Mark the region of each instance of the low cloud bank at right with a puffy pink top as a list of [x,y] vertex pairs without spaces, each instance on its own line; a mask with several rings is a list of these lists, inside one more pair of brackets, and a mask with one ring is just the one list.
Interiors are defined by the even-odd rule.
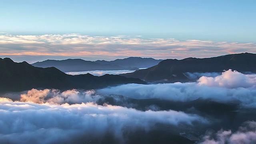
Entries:
[[216,77],[202,76],[198,82],[172,84],[126,84],[98,90],[102,94],[118,94],[135,99],[160,98],[191,101],[198,98],[217,102],[240,102],[256,108],[256,75],[228,70]]

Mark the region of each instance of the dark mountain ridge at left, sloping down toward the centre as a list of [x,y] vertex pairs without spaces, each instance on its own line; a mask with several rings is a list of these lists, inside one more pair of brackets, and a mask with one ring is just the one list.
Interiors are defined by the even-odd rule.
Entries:
[[0,59],[0,92],[30,90],[32,88],[94,89],[118,84],[145,84],[137,78],[91,74],[68,75],[57,68],[38,68],[27,62],[16,63],[10,58]]

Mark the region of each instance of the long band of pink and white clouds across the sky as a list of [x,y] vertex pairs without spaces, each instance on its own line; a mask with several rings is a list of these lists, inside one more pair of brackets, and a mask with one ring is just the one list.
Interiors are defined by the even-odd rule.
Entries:
[[[13,58],[42,56],[47,59],[86,58],[113,60],[128,56],[152,58],[204,58],[229,53],[255,52],[256,44],[143,38],[138,36],[86,36],[81,34],[11,35],[0,34],[0,56]],[[45,59],[44,59],[45,60]]]

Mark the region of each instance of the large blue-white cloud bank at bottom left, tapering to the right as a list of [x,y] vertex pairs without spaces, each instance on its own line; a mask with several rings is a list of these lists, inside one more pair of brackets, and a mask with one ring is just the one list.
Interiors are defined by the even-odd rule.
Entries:
[[[48,92],[32,90],[29,94],[42,97]],[[75,93],[66,91],[62,95],[71,96]],[[142,112],[121,106],[99,106],[92,102],[72,105],[49,102],[35,104],[13,102],[7,98],[0,98],[0,115],[0,142],[20,144],[83,143],[100,140],[108,132],[120,143],[124,140],[124,131],[147,131],[154,129],[156,124],[192,126],[193,122],[207,123],[198,115],[173,110]]]

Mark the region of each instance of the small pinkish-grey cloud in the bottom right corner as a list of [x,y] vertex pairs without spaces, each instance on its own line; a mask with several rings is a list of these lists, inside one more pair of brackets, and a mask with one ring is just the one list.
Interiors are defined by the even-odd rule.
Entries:
[[204,136],[204,141],[200,144],[253,144],[256,143],[256,122],[245,122],[237,132],[220,130],[211,135]]

